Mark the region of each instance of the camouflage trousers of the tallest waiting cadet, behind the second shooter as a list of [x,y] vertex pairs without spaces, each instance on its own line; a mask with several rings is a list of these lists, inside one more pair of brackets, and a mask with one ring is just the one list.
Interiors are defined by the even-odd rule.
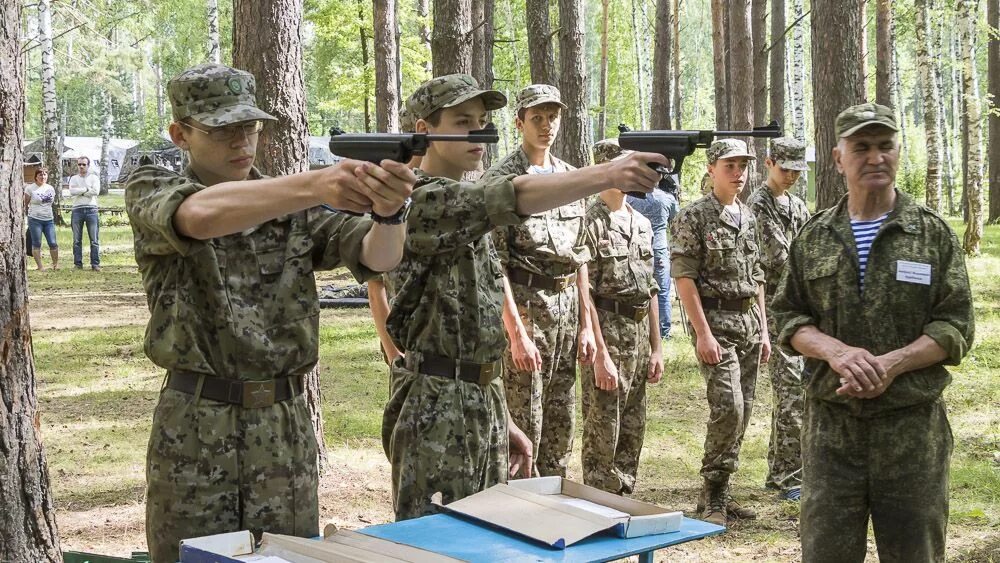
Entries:
[[520,371],[510,348],[504,354],[504,385],[511,419],[531,439],[536,476],[566,476],[576,426],[576,363],[579,300],[576,286],[560,292],[512,283],[511,291],[542,369]]

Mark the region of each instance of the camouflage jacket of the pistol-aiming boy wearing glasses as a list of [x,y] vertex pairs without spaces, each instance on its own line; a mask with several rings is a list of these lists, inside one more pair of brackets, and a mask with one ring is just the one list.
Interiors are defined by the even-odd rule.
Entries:
[[146,355],[168,370],[232,379],[308,372],[319,350],[313,271],[374,276],[360,262],[371,220],[317,207],[194,240],[174,230],[174,214],[204,187],[190,168],[142,166],[129,177],[125,207],[150,311]]

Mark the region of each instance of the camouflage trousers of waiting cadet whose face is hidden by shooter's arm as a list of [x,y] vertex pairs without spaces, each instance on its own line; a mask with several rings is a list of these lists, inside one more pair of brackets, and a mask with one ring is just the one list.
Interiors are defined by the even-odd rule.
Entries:
[[598,389],[594,366],[580,370],[583,394],[583,482],[621,494],[635,489],[646,431],[649,321],[597,311],[604,343],[618,368],[618,388]]

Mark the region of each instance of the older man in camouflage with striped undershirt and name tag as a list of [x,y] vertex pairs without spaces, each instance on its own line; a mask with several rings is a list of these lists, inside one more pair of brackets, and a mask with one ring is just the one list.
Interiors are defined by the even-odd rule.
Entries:
[[942,391],[972,345],[972,295],[948,224],[895,188],[891,108],[837,116],[847,195],[792,242],[772,307],[806,357],[802,559],[944,561],[952,435]]

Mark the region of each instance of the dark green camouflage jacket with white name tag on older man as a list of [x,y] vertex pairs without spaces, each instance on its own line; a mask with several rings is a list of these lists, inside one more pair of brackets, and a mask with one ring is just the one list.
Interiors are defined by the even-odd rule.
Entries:
[[[900,261],[930,266],[930,283],[897,279]],[[858,284],[858,253],[847,196],[817,213],[792,241],[788,269],[772,303],[787,352],[799,328],[813,325],[849,346],[882,355],[926,334],[948,353],[941,364],[900,375],[875,399],[836,394],[840,377],[817,359],[806,359],[806,396],[846,403],[858,416],[935,400],[951,381],[945,365],[957,365],[972,345],[972,294],[961,244],[930,209],[897,191],[896,208],[872,241],[865,289]]]

